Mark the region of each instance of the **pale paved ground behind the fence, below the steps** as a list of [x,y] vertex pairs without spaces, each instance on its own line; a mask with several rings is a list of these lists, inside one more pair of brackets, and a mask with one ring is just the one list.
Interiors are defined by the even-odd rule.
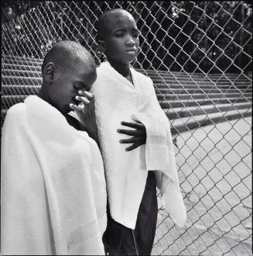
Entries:
[[181,133],[176,144],[186,227],[160,209],[152,254],[251,255],[251,118]]

